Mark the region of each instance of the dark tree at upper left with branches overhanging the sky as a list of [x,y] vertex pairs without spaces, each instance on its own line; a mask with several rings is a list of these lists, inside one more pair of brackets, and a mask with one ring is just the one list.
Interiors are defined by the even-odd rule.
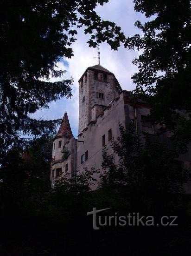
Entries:
[[119,47],[124,35],[115,23],[101,20],[94,11],[108,0],[29,0],[0,2],[0,148],[22,143],[20,134],[54,134],[60,120],[43,121],[30,117],[48,103],[71,96],[72,79],[50,82],[65,71],[56,63],[71,58],[71,44],[77,28],[90,34],[89,46],[107,41]]

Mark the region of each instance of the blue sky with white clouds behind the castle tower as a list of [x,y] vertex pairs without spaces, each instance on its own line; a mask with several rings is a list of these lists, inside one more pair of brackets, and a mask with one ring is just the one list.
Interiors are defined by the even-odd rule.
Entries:
[[[143,14],[134,11],[133,0],[109,0],[104,6],[97,6],[96,13],[103,20],[115,22],[127,37],[141,33],[138,28],[134,27],[135,21],[146,21]],[[78,135],[78,80],[87,67],[98,64],[98,59],[94,58],[97,57],[97,49],[89,48],[87,44],[89,37],[83,33],[83,29],[78,30],[77,40],[72,44],[74,56],[71,59],[62,59],[57,63],[58,69],[66,70],[67,73],[62,78],[50,79],[50,81],[58,81],[73,77],[71,99],[62,98],[51,102],[49,109],[38,110],[33,115],[37,119],[57,119],[62,118],[64,112],[67,111],[74,137]],[[115,74],[122,89],[133,90],[135,85],[131,77],[137,71],[137,67],[132,64],[132,61],[140,53],[136,50],[125,49],[123,46],[114,51],[107,43],[100,45],[100,52],[101,65]]]

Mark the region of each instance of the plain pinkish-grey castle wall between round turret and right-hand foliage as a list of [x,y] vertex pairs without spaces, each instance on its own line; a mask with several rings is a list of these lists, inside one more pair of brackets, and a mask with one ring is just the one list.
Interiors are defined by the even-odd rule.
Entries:
[[[114,118],[115,117],[115,118]],[[78,135],[77,142],[77,171],[83,171],[83,168],[88,167],[89,170],[92,167],[96,169],[102,169],[102,136],[105,135],[106,146],[111,146],[111,140],[108,141],[108,131],[112,130],[112,139],[115,139],[120,135],[118,124],[125,125],[124,104],[123,95],[117,101],[114,101],[108,109],[104,111],[104,114],[97,118],[97,121],[88,125],[88,129],[84,130],[82,135]],[[85,157],[85,153],[88,151],[88,160],[82,163],[82,155]],[[111,152],[111,148],[109,148]],[[108,151],[108,152],[109,152]],[[99,175],[95,175],[99,181]],[[91,189],[96,189],[97,184],[93,185]]]

